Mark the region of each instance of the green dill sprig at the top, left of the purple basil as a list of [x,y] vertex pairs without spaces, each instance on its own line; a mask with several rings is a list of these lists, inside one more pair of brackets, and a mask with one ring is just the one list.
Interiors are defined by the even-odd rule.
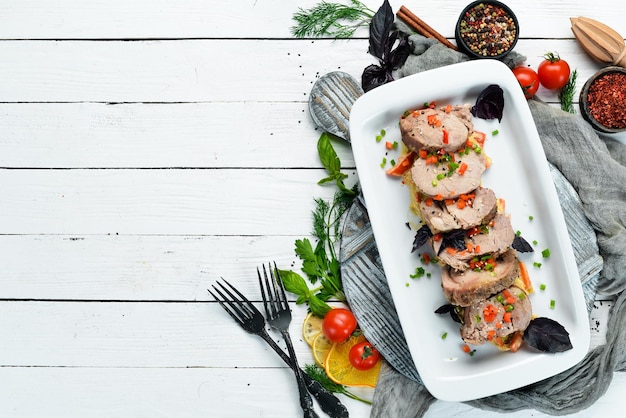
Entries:
[[358,0],[351,5],[322,1],[310,9],[298,9],[293,15],[296,25],[291,33],[296,38],[332,36],[349,38],[361,26],[367,26],[374,11]]

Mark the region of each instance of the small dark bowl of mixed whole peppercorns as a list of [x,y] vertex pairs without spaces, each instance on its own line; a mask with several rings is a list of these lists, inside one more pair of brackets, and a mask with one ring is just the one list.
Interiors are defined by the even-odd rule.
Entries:
[[470,58],[504,58],[519,39],[515,13],[499,1],[474,1],[461,12],[455,29],[460,51]]

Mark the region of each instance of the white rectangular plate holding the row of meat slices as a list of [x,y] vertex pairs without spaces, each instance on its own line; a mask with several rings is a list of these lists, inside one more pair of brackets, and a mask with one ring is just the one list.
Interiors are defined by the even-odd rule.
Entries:
[[[381,161],[397,158],[385,141],[401,143],[398,121],[407,109],[436,101],[438,105],[474,104],[489,84],[504,91],[504,115],[498,120],[474,118],[475,129],[487,133],[484,150],[493,164],[483,185],[506,201],[513,229],[530,243],[533,253],[520,254],[535,288],[536,316],[556,320],[570,333],[573,349],[544,354],[523,348],[501,352],[491,344],[461,349],[459,327],[435,309],[447,303],[441,291],[441,268],[426,266],[431,277],[412,279],[422,263],[411,253],[415,228],[409,194],[398,178],[385,174]],[[386,131],[384,140],[376,136]],[[498,130],[496,135],[493,134]],[[558,374],[578,363],[589,348],[587,310],[563,213],[537,129],[522,90],[508,67],[478,60],[419,73],[378,87],[359,98],[350,115],[350,137],[359,181],[374,237],[400,323],[415,366],[433,396],[466,401],[519,388]],[[387,163],[387,168],[390,167]],[[543,258],[542,250],[550,257]],[[533,263],[541,263],[534,267]],[[539,290],[545,284],[545,290]],[[550,301],[556,305],[550,307]],[[447,333],[446,338],[442,335]]]

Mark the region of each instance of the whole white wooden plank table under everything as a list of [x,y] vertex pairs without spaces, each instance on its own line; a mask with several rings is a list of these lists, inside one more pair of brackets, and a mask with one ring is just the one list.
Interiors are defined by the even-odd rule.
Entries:
[[[291,16],[315,3],[0,0],[0,416],[301,416],[290,371],[206,288],[223,276],[258,299],[256,266],[299,266],[313,198],[332,194],[316,184],[308,94],[320,75],[360,78],[374,59],[365,29],[293,39]],[[569,17],[626,34],[617,0],[507,3],[528,63],[556,50],[579,88],[600,66]],[[452,38],[466,2],[391,2],[402,4]],[[354,175],[350,148],[336,147]],[[299,360],[312,362],[305,309],[293,311]],[[625,390],[616,375],[577,416],[607,416]],[[444,414],[490,416],[428,412]]]

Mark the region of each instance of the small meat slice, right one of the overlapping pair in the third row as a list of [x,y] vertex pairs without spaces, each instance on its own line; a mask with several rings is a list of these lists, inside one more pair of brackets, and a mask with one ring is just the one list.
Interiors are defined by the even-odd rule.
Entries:
[[454,202],[446,202],[446,209],[456,220],[459,229],[486,224],[496,215],[496,194],[485,187],[479,187],[468,195],[461,195]]

